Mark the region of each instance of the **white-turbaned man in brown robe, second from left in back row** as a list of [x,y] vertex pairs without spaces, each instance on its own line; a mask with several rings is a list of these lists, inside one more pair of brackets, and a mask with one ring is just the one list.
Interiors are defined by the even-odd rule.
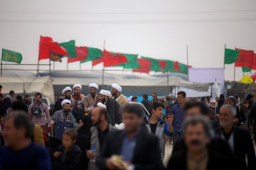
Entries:
[[84,95],[81,94],[82,86],[76,84],[73,86],[74,93],[71,96],[72,107],[83,107],[84,104]]

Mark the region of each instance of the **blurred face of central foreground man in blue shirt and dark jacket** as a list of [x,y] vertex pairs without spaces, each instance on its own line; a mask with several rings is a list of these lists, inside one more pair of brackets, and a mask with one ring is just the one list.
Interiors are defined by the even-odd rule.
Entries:
[[136,132],[140,128],[140,125],[143,122],[143,118],[138,117],[135,113],[127,113],[123,114],[123,122],[125,125],[125,131],[127,133]]

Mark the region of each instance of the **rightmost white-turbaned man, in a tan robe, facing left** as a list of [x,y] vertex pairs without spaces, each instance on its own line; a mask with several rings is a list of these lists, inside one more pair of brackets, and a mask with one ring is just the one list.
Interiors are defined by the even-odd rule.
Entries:
[[129,100],[127,99],[127,97],[124,96],[124,94],[121,94],[122,92],[122,87],[120,87],[120,85],[113,83],[111,85],[111,94],[113,99],[115,99],[118,104],[121,106],[121,108],[123,108],[126,104],[129,103]]

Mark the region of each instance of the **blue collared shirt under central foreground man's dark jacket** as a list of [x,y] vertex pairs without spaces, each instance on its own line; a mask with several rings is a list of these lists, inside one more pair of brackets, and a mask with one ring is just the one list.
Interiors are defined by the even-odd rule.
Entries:
[[136,146],[136,139],[138,137],[139,132],[140,130],[134,134],[132,139],[130,139],[124,132],[124,140],[122,144],[121,155],[123,156],[123,160],[127,162],[132,162],[134,148]]

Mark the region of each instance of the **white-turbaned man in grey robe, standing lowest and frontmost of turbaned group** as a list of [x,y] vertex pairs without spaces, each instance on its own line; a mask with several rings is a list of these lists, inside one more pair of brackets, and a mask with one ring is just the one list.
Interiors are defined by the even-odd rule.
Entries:
[[78,129],[79,126],[76,122],[76,118],[71,113],[71,101],[68,99],[64,99],[61,102],[62,110],[56,111],[52,118],[51,122],[49,123],[49,127],[52,127],[54,124],[57,124],[58,122],[72,122],[74,123],[74,128]]

